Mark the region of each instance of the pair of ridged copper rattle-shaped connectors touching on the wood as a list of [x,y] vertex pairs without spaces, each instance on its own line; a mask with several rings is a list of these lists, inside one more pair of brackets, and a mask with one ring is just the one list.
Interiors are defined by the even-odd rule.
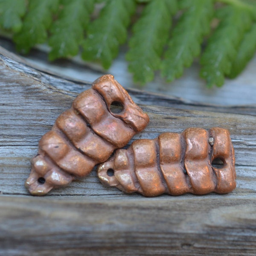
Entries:
[[[118,111],[114,106],[119,106]],[[32,195],[45,195],[88,175],[99,163],[102,183],[147,197],[187,192],[222,194],[236,187],[228,130],[188,128],[181,134],[167,132],[118,149],[148,122],[148,115],[113,76],[100,77],[91,89],[77,96],[72,107],[41,138],[26,188]],[[223,162],[221,168],[212,165],[215,159]]]

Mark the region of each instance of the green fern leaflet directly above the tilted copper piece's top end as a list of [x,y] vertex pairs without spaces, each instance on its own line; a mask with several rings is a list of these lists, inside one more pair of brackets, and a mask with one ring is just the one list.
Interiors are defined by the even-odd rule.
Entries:
[[125,43],[127,26],[135,11],[134,0],[108,0],[99,17],[89,24],[87,38],[82,44],[82,58],[86,61],[99,61],[105,69],[111,66]]

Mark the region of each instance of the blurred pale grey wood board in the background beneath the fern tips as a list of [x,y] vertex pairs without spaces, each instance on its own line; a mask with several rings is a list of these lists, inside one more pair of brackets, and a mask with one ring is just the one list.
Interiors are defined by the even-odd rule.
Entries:
[[[7,38],[0,37],[0,45],[12,52],[16,52],[15,44]],[[133,82],[132,75],[128,72],[128,63],[125,60],[126,50],[125,47],[121,47],[119,55],[113,61],[108,73],[114,75],[125,88],[138,88],[139,85]],[[47,56],[48,52],[49,48],[40,45],[36,47],[36,49],[33,49],[29,55],[26,55],[25,59],[32,67],[36,64],[40,67],[39,70],[45,69],[48,70],[48,72],[50,70],[50,72],[55,72],[61,77],[69,76],[71,80],[80,79],[82,81],[93,81],[104,74],[104,70],[102,70],[99,65],[84,63],[81,59],[76,57],[69,58],[68,60],[61,59],[49,62]],[[166,83],[164,79],[161,78],[160,73],[157,72],[154,81],[145,84],[143,90],[182,97],[191,102],[196,101],[202,104],[255,104],[256,54],[248,63],[245,70],[236,79],[225,79],[225,85],[223,87],[207,88],[205,81],[199,76],[200,69],[201,65],[199,61],[195,60],[191,67],[184,70],[183,76],[172,83]],[[67,88],[67,90],[70,90],[70,88]],[[169,98],[169,96],[167,96],[167,98]],[[167,100],[166,102],[169,101]]]

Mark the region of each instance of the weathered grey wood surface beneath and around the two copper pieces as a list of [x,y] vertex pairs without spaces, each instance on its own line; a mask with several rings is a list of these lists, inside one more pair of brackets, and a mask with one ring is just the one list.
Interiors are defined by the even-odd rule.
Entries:
[[230,194],[125,195],[99,183],[94,170],[38,198],[24,187],[38,141],[90,84],[41,72],[3,48],[0,76],[0,255],[256,255],[255,105],[129,90],[151,120],[131,142],[188,127],[230,130],[237,173]]

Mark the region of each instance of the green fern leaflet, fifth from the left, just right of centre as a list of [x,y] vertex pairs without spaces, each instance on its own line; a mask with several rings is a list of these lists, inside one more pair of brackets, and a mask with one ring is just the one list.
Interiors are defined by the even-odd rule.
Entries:
[[146,83],[154,79],[159,69],[163,47],[172,24],[172,14],[177,11],[176,0],[151,0],[133,27],[134,35],[129,41],[126,54],[128,70],[134,81]]

